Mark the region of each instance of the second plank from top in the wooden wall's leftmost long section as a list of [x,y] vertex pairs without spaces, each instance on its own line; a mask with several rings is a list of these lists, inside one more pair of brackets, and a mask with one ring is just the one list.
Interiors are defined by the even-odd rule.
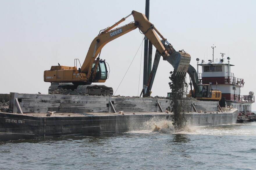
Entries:
[[109,101],[99,101],[99,100],[80,100],[80,99],[21,99],[22,103],[106,103]]

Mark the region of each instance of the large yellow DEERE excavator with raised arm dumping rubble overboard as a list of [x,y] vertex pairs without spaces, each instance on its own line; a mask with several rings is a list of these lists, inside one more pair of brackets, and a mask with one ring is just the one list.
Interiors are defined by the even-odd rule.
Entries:
[[[113,29],[131,15],[134,17],[134,22]],[[173,46],[168,43],[154,25],[147,20],[144,14],[132,11],[127,17],[122,18],[111,27],[102,30],[102,32],[95,37],[89,47],[83,64],[80,64],[81,68],[77,69],[77,61],[79,60],[75,59],[74,67],[57,65],[51,66],[51,70],[46,70],[44,72],[44,81],[51,83],[49,92],[62,88],[77,89],[78,92],[88,95],[113,95],[113,89],[111,87],[92,85],[92,83],[104,83],[108,78],[105,60],[99,58],[100,52],[104,45],[136,28],[138,28],[154,47],[156,47],[161,56],[163,56],[163,60],[167,60],[173,65],[176,74],[186,74],[191,59],[190,55],[184,52],[176,52]],[[158,35],[161,37],[164,44],[158,38]]]

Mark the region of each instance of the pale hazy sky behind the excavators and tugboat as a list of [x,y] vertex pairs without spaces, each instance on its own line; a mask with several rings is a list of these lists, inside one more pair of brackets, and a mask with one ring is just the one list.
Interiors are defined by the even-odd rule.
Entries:
[[[150,22],[175,50],[184,49],[196,58],[212,59],[225,53],[231,58],[231,72],[243,78],[242,95],[256,92],[255,12],[256,1],[150,1]],[[91,41],[99,31],[126,17],[132,10],[145,13],[145,0],[129,1],[35,1],[0,0],[0,93],[48,93],[50,83],[44,70],[52,65],[74,66],[84,61]],[[130,23],[129,17],[119,26]],[[110,66],[104,85],[117,90],[143,40],[138,29],[111,41],[102,49],[101,59]],[[139,49],[115,95],[137,96],[142,90],[143,50]],[[155,49],[153,48],[153,57]],[[227,60],[225,60],[227,61]],[[140,67],[141,74],[140,74]],[[169,72],[173,67],[160,60],[152,96],[170,91]],[[201,69],[200,71],[201,72]],[[141,80],[139,76],[141,75]],[[189,81],[189,78],[187,78]],[[140,82],[140,86],[139,86]],[[139,89],[138,89],[139,88]],[[252,110],[256,110],[253,104]]]

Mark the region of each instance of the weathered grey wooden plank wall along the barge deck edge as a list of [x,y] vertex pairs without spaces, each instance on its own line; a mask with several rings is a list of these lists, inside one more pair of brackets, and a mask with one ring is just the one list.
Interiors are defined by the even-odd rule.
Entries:
[[[93,112],[165,112],[171,110],[169,99],[128,98],[111,96],[70,96],[48,94],[10,94],[10,108],[17,113],[93,113]],[[16,102],[17,98],[18,102]],[[217,101],[186,100],[184,111],[218,111]]]

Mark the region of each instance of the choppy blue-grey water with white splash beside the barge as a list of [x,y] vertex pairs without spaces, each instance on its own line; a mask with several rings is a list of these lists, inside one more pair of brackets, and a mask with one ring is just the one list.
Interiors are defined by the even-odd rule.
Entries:
[[256,122],[0,142],[0,169],[256,169]]

